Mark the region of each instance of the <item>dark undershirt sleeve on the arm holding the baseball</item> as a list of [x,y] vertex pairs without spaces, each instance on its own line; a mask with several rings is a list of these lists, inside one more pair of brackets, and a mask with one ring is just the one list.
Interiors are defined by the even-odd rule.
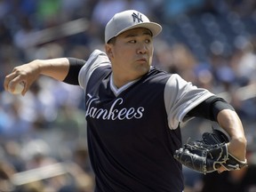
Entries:
[[76,58],[67,58],[69,61],[69,70],[68,75],[65,77],[63,82],[67,84],[75,84],[78,85],[78,75],[80,69],[84,66],[85,60],[79,60]]

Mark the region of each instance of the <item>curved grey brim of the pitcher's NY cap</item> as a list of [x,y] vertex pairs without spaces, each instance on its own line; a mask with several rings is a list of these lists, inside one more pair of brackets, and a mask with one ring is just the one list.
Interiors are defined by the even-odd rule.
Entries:
[[119,36],[120,34],[132,28],[148,28],[152,32],[152,36],[157,36],[162,31],[161,25],[155,22],[143,22],[143,23],[138,23],[136,25],[132,25],[129,28],[124,28],[123,30],[119,31],[119,33],[117,33],[116,36]]

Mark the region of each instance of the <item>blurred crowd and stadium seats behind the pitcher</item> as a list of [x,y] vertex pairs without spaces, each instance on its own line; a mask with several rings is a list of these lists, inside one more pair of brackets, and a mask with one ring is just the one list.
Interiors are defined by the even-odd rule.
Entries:
[[[4,91],[4,76],[30,60],[86,60],[95,48],[103,49],[108,20],[127,9],[162,24],[156,67],[219,94],[244,124],[249,166],[221,177],[184,168],[185,192],[256,191],[253,0],[0,0],[0,191],[93,191],[83,90],[42,76],[23,97]],[[182,125],[184,142],[198,139],[211,124],[195,119]],[[56,169],[60,174],[51,172]],[[212,180],[228,187],[211,187]]]

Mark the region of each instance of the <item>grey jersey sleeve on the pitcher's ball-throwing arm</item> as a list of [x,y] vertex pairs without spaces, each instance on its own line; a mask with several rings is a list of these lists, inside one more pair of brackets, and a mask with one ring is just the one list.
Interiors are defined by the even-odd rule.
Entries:
[[103,66],[110,66],[110,60],[105,52],[101,52],[100,50],[95,50],[90,55],[89,59],[84,64],[84,67],[81,68],[78,75],[79,85],[86,90],[86,85],[92,75],[92,72],[96,68],[100,68]]

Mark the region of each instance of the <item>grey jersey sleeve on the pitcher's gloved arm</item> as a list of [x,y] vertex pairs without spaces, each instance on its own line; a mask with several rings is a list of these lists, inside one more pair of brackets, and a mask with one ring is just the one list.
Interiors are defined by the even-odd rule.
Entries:
[[204,100],[214,95],[202,88],[185,81],[179,75],[173,74],[164,88],[164,104],[170,129],[176,129],[180,122],[186,122],[187,113]]

